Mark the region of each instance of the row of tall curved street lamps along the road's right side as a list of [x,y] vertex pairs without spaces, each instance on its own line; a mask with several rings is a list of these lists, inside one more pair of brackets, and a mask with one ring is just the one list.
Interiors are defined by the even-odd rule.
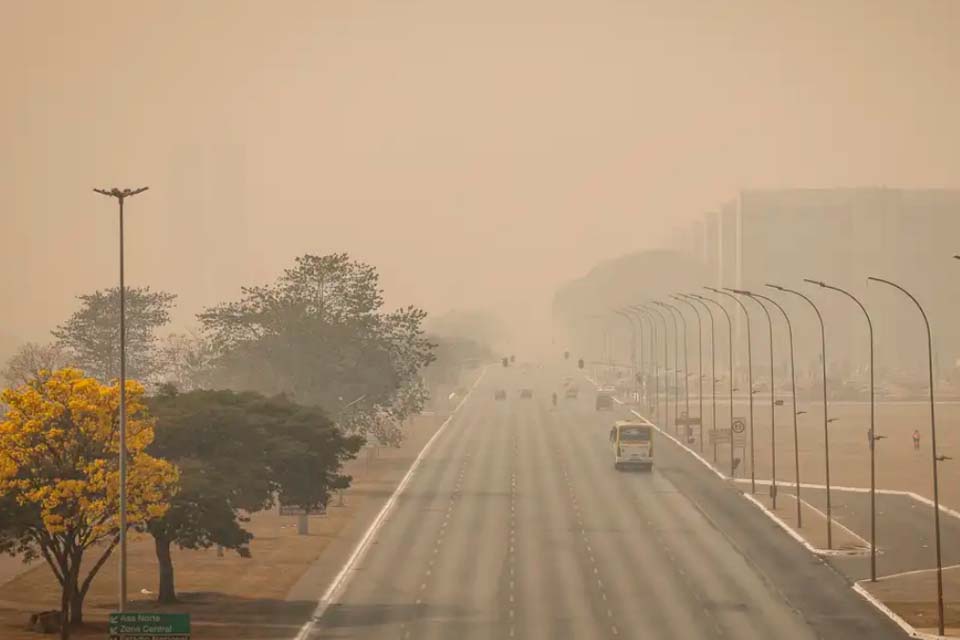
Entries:
[[[953,256],[955,259],[960,260],[960,255]],[[940,495],[939,495],[939,482],[938,482],[938,470],[937,465],[939,462],[944,460],[949,460],[947,456],[941,456],[937,452],[937,435],[936,435],[936,416],[935,416],[935,406],[934,406],[934,391],[933,391],[933,346],[932,338],[930,332],[930,322],[927,318],[927,314],[924,311],[922,305],[919,301],[907,291],[905,288],[883,278],[877,278],[870,276],[867,278],[868,282],[877,282],[889,287],[899,290],[901,293],[906,295],[913,303],[916,305],[917,309],[920,311],[920,314],[924,321],[924,326],[927,333],[927,355],[928,355],[928,372],[929,372],[929,396],[930,396],[930,432],[931,432],[931,451],[932,451],[932,463],[933,463],[933,513],[934,513],[934,529],[935,529],[935,539],[936,539],[936,562],[937,562],[937,611],[938,611],[938,628],[939,632],[943,634],[943,566],[941,559],[941,545],[940,545]],[[867,321],[867,329],[869,333],[870,341],[870,367],[869,367],[869,376],[870,376],[870,430],[868,432],[868,440],[870,447],[870,579],[876,581],[877,579],[877,527],[876,527],[876,442],[881,440],[884,436],[878,435],[876,432],[875,424],[875,387],[874,387],[874,335],[873,335],[873,322],[870,318],[870,314],[867,311],[866,306],[861,302],[856,296],[854,296],[849,291],[837,287],[835,285],[828,284],[820,280],[811,280],[805,279],[804,282],[809,284],[816,285],[821,289],[835,291],[840,293],[850,300],[852,300],[863,312],[864,317]],[[820,329],[820,361],[822,367],[822,401],[823,401],[823,436],[824,436],[824,465],[825,465],[825,489],[826,489],[826,529],[827,529],[827,548],[833,548],[833,514],[832,514],[832,504],[831,504],[831,487],[830,487],[830,423],[834,422],[836,418],[831,418],[828,413],[828,401],[827,401],[827,356],[826,356],[826,331],[824,328],[823,315],[820,312],[820,309],[817,307],[816,303],[806,294],[797,291],[796,289],[791,289],[788,287],[780,286],[777,284],[768,283],[766,287],[779,291],[783,294],[790,294],[796,297],[801,298],[810,308],[813,309],[817,322]],[[748,427],[750,431],[750,489],[751,492],[756,492],[756,477],[754,474],[754,459],[755,459],[755,450],[754,450],[754,432],[753,432],[753,422],[754,422],[754,411],[753,411],[753,354],[752,354],[752,338],[751,338],[751,324],[750,324],[750,313],[747,309],[747,306],[743,304],[742,298],[753,300],[760,309],[763,310],[764,315],[767,318],[767,324],[769,328],[769,337],[770,337],[770,462],[771,462],[771,488],[770,495],[772,499],[773,508],[777,508],[777,476],[776,476],[776,412],[775,407],[777,406],[777,401],[775,397],[775,386],[774,386],[774,340],[773,340],[773,317],[770,314],[770,309],[768,305],[773,308],[776,308],[780,314],[783,316],[784,321],[787,326],[788,332],[788,341],[789,341],[789,351],[790,351],[790,384],[792,391],[793,399],[793,447],[794,447],[794,474],[795,474],[795,483],[794,491],[796,493],[796,503],[797,503],[797,527],[802,526],[801,520],[801,501],[800,501],[800,454],[799,454],[799,435],[797,429],[797,417],[806,413],[805,411],[797,410],[797,387],[796,387],[796,369],[794,364],[794,340],[793,340],[793,325],[790,321],[790,317],[787,314],[786,310],[781,306],[779,302],[774,300],[772,297],[762,295],[755,291],[749,291],[745,289],[732,289],[732,288],[715,288],[715,287],[704,287],[704,289],[713,292],[718,296],[723,296],[733,300],[743,311],[744,318],[746,320],[746,339],[747,339],[747,383],[749,385],[749,392],[747,394],[748,403],[749,403],[749,422]],[[728,334],[729,334],[729,392],[730,392],[730,476],[733,477],[737,467],[737,461],[734,457],[734,432],[733,432],[733,392],[736,391],[734,387],[734,371],[733,371],[733,320],[730,317],[730,314],[727,312],[724,305],[717,298],[710,297],[704,294],[698,293],[674,293],[671,294],[670,299],[672,301],[683,303],[693,310],[694,314],[697,317],[697,327],[698,327],[698,345],[699,345],[699,403],[700,403],[700,438],[699,438],[699,448],[700,452],[703,452],[703,322],[698,310],[698,305],[702,307],[710,317],[710,345],[711,345],[711,365],[710,365],[710,378],[711,378],[711,388],[713,395],[713,423],[712,427],[716,430],[717,425],[717,376],[716,376],[716,318],[713,314],[713,309],[719,309],[727,321]],[[674,327],[674,423],[679,424],[679,393],[680,393],[680,366],[679,366],[679,351],[680,351],[680,327],[677,322],[677,318],[680,318],[680,324],[683,325],[683,353],[684,353],[684,394],[685,394],[685,407],[686,415],[689,417],[690,413],[690,393],[689,393],[689,368],[688,368],[688,359],[687,359],[687,345],[686,345],[686,334],[687,326],[684,314],[679,306],[674,306],[663,300],[650,300],[643,304],[631,305],[623,307],[621,309],[615,310],[615,313],[619,316],[625,318],[630,325],[630,329],[633,332],[634,345],[639,344],[639,359],[638,359],[638,368],[639,371],[644,364],[643,359],[643,336],[644,333],[647,333],[649,338],[649,353],[650,362],[652,362],[653,369],[653,378],[654,378],[654,404],[655,404],[655,413],[657,420],[659,421],[663,417],[662,424],[670,424],[670,386],[668,384],[668,375],[669,375],[669,354],[668,354],[668,323],[666,312],[672,319],[672,324]],[[646,321],[649,324],[649,329],[645,330]],[[656,347],[658,342],[658,324],[662,327],[663,333],[663,370],[664,370],[664,410],[661,414],[660,405],[659,405],[659,378],[660,378],[660,367],[659,362],[656,356]],[[636,340],[636,332],[639,329],[640,339]],[[636,351],[634,352],[636,356]],[[646,397],[645,390],[642,392],[642,398]],[[717,438],[716,434],[713,439],[713,459],[716,462],[717,460]]]

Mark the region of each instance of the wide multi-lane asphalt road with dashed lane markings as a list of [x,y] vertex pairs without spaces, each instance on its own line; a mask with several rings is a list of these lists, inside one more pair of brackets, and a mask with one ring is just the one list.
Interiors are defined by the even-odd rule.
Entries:
[[620,411],[554,409],[559,382],[489,371],[311,638],[906,637],[665,438],[615,471]]

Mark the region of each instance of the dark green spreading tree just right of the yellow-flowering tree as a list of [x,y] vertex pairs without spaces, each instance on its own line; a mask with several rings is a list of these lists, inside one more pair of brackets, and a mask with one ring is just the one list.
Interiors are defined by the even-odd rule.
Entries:
[[166,388],[149,400],[157,419],[149,451],[180,468],[180,492],[150,520],[159,563],[160,602],[177,595],[172,545],[245,550],[246,514],[284,502],[316,507],[349,477],[339,473],[360,447],[317,409],[258,393]]

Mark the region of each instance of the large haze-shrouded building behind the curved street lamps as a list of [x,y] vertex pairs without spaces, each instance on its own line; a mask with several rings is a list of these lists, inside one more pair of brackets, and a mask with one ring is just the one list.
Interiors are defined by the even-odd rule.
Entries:
[[[704,263],[717,286],[759,291],[774,282],[817,302],[827,325],[831,377],[862,377],[868,362],[866,324],[852,301],[805,284],[803,278],[824,280],[860,297],[874,320],[878,371],[890,380],[916,380],[918,371],[926,369],[922,320],[902,294],[876,283],[867,286],[866,278],[903,285],[930,316],[938,374],[954,374],[960,358],[960,261],[952,256],[960,253],[960,190],[743,191],[706,214],[696,228],[700,238],[688,251]],[[809,373],[819,357],[813,312],[792,296],[765,292],[789,302],[798,366]],[[762,370],[759,358],[767,356],[757,349],[765,352],[768,337],[759,310],[753,323],[754,369]]]

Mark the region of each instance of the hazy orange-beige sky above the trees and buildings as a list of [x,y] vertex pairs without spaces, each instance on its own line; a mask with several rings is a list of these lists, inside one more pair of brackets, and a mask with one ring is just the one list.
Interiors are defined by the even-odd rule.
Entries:
[[960,2],[0,0],[0,334],[305,252],[523,326],[741,187],[960,186]]

